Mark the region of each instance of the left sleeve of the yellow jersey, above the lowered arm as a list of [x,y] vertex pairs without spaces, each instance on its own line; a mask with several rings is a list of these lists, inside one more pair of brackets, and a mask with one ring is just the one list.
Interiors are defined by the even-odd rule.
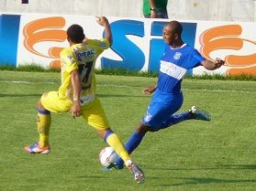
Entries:
[[71,48],[65,48],[61,51],[61,62],[62,67],[68,73],[71,73],[74,69],[78,69],[78,64]]

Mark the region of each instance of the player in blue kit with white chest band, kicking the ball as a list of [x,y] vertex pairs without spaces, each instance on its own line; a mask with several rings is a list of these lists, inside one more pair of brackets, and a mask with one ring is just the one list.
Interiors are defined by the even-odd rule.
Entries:
[[[182,25],[178,21],[171,21],[163,28],[163,39],[166,42],[164,53],[160,61],[160,74],[155,87],[144,89],[144,93],[155,92],[148,107],[147,114],[134,133],[129,137],[125,148],[131,154],[141,143],[147,132],[157,132],[185,120],[210,121],[210,115],[193,106],[189,111],[177,114],[184,101],[181,83],[188,69],[204,66],[214,70],[225,62],[219,58],[215,62],[203,58],[195,49],[186,45],[181,37]],[[123,168],[121,158],[109,168]]]

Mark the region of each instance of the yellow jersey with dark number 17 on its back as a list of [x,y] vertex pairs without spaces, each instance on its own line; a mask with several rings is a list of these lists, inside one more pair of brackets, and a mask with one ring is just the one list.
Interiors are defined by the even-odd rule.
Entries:
[[71,72],[78,69],[82,81],[82,104],[95,100],[95,61],[110,44],[106,38],[86,39],[61,51],[61,87],[59,98],[72,100]]

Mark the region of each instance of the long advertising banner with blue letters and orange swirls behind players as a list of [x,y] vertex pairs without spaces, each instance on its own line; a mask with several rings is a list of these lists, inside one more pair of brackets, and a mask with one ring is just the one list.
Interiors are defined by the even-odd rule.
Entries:
[[[108,17],[113,44],[97,59],[96,69],[158,71],[168,20]],[[212,73],[256,76],[255,23],[181,21],[184,42],[205,58],[223,58],[226,66]],[[60,52],[69,46],[66,29],[79,24],[88,38],[104,37],[95,16],[0,15],[0,65],[38,64],[60,68]],[[198,67],[191,74],[210,73]]]

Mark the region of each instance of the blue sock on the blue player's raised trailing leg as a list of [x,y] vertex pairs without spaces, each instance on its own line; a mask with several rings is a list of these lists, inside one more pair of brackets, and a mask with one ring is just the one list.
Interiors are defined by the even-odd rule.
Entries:
[[173,124],[177,124],[179,122],[184,122],[185,120],[191,120],[191,119],[193,119],[193,116],[189,112],[173,114],[165,122],[162,122],[161,129],[165,129],[167,127],[172,126]]

